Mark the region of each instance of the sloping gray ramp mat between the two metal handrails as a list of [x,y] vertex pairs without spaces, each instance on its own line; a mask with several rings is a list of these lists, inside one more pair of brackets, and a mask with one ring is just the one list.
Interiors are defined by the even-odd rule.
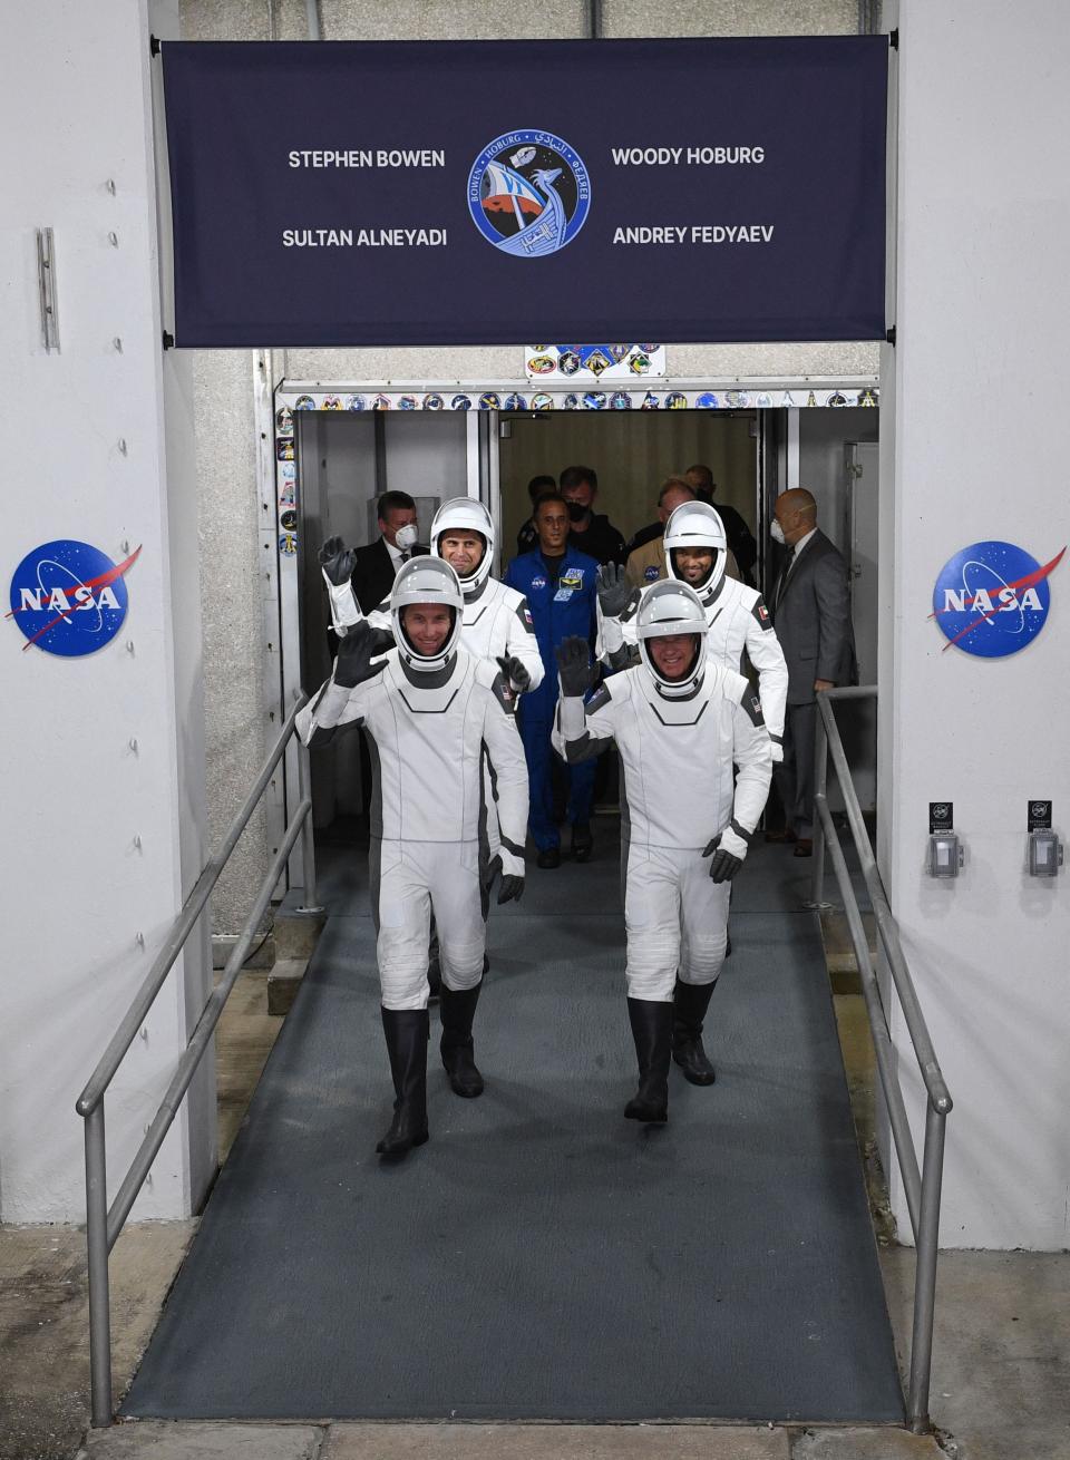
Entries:
[[393,1167],[371,923],[330,920],[126,1415],[902,1421],[813,917],[733,915],[717,1085],[644,1129],[619,912],[555,882],[492,918],[486,1094],[432,1026]]

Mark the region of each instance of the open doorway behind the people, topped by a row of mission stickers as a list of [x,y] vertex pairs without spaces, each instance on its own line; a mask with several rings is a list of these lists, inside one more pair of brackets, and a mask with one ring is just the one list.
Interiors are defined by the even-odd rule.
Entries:
[[[558,477],[578,463],[596,469],[597,510],[625,539],[654,520],[666,476],[695,463],[709,466],[717,483],[714,505],[736,508],[755,533],[756,578],[766,593],[778,572],[768,537],[772,504],[784,488],[807,486],[817,498],[822,530],[851,566],[857,637],[873,660],[871,669],[863,664],[863,677],[874,679],[877,391],[864,385],[851,396],[845,387],[796,390],[794,396],[784,390],[736,394],[740,409],[728,410],[702,409],[698,402],[708,397],[695,394],[680,397],[683,409],[507,412],[495,409],[509,399],[505,387],[453,396],[442,388],[420,396],[384,394],[372,387],[363,387],[362,394],[353,394],[352,387],[302,390],[282,383],[274,441],[279,515],[272,545],[279,574],[280,708],[299,686],[314,689],[330,672],[318,549],[336,533],[353,546],[372,542],[381,492],[401,489],[413,496],[422,542],[442,501],[480,498],[498,526],[493,571],[501,574],[530,514],[530,479]],[[864,711],[854,718],[860,723],[845,726],[845,739],[867,807],[876,802],[876,727],[863,723]],[[288,766],[288,800],[296,797],[290,771]],[[347,748],[314,762],[320,832],[339,819],[361,816],[366,781],[356,736]]]

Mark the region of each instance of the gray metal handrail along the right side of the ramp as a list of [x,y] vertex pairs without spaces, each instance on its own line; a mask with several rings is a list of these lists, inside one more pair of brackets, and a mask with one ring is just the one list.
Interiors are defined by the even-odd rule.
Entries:
[[[914,1229],[917,1247],[917,1267],[914,1275],[914,1326],[911,1336],[911,1372],[907,1394],[907,1415],[911,1429],[924,1434],[931,1429],[928,1419],[928,1386],[933,1367],[933,1317],[936,1307],[936,1260],[940,1237],[940,1191],[943,1186],[943,1148],[947,1114],[952,1110],[952,1096],[944,1083],[940,1064],[933,1048],[933,1041],[921,1012],[914,980],[907,967],[907,958],[899,942],[899,929],[885,892],[866,823],[858,804],[858,794],[851,780],[851,771],[844,752],[844,742],[839,737],[834,699],[876,699],[876,685],[850,685],[842,689],[825,689],[817,694],[817,733],[815,736],[815,809],[817,821],[813,838],[813,905],[819,907],[825,886],[825,851],[832,857],[832,870],[836,875],[839,894],[844,899],[847,923],[858,961],[866,1012],[873,1035],[873,1048],[880,1076],[880,1089],[888,1108],[892,1142],[895,1145],[899,1171],[902,1172],[904,1191],[907,1193],[907,1207]],[[870,958],[869,939],[861,921],[858,899],[851,886],[851,875],[847,869],[844,848],[839,845],[832,813],[828,806],[828,761],[836,771],[839,788],[844,794],[847,819],[851,828],[854,847],[861,863],[866,889],[870,895],[873,914],[880,934],[880,942],[892,972],[892,983],[899,996],[907,1031],[914,1045],[914,1054],[925,1085],[925,1145],[923,1168],[918,1172],[918,1155],[914,1146],[907,1107],[904,1104],[902,1088],[896,1073],[895,1050],[892,1035],[888,1028],[888,1015],[880,997],[877,975]]]

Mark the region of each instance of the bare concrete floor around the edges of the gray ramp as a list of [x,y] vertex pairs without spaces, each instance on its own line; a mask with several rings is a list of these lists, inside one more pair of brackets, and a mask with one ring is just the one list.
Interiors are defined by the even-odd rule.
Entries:
[[[834,987],[850,987],[826,920]],[[873,1139],[873,1051],[863,1000],[835,997],[901,1356],[914,1253],[895,1245]],[[280,1021],[267,980],[244,974],[218,1034],[220,1150],[229,1150]],[[111,1259],[115,1399],[133,1377],[196,1222],[128,1226]],[[0,1460],[1070,1460],[1070,1254],[944,1253],[933,1361],[933,1437],[895,1429],[569,1425],[124,1424],[89,1416],[85,1235],[0,1226]],[[85,1437],[85,1450],[80,1442]]]

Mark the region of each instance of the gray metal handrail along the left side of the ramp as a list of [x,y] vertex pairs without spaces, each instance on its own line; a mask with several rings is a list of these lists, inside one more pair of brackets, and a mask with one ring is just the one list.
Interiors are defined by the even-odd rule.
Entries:
[[89,1372],[92,1391],[92,1425],[102,1429],[111,1425],[111,1292],[108,1282],[108,1254],[111,1253],[120,1232],[130,1216],[130,1210],[137,1199],[152,1162],[163,1145],[171,1124],[178,1114],[178,1108],[193,1083],[197,1067],[209,1047],[219,1016],[234,988],[242,964],[248,956],[250,945],[255,936],[255,929],[263,918],[272,891],[283,875],[286,861],[299,835],[305,835],[305,869],[307,882],[305,902],[315,904],[315,888],[312,882],[311,860],[311,819],[312,802],[308,794],[308,752],[304,746],[298,752],[298,784],[299,804],[293,813],[282,845],[279,847],[272,866],[260,883],[257,899],[245,918],[241,936],[231,950],[231,956],[223,968],[222,978],[209,996],[200,1012],[197,1025],[182,1051],[166,1094],[161,1101],[156,1114],[146,1129],[145,1139],[137,1148],[134,1158],[123,1178],[115,1200],[108,1206],[108,1167],[107,1142],[104,1127],[104,1096],[108,1092],[115,1073],[130,1048],[134,1035],[145,1022],[149,1009],[163,987],[163,980],[181,953],[185,940],[197,926],[200,914],[219,880],[226,861],[238,844],[250,816],[255,810],[257,802],[264,793],[272,772],[282,759],[286,746],[293,734],[293,726],[301,707],[307,704],[307,696],[299,695],[290,714],[283,724],[260,775],[253,784],[253,790],[245,797],[245,803],[231,823],[223,842],[216,856],[207,863],[197,877],[193,891],[182,904],[181,911],[171,926],[163,946],[153,959],[152,968],[146,974],[145,983],[139,988],[134,1002],[127,1010],[123,1022],[108,1042],[108,1048],[101,1057],[96,1069],[89,1077],[86,1088],[77,1098],[76,1110],[85,1120],[85,1153],[86,1153],[86,1245],[89,1251]]

